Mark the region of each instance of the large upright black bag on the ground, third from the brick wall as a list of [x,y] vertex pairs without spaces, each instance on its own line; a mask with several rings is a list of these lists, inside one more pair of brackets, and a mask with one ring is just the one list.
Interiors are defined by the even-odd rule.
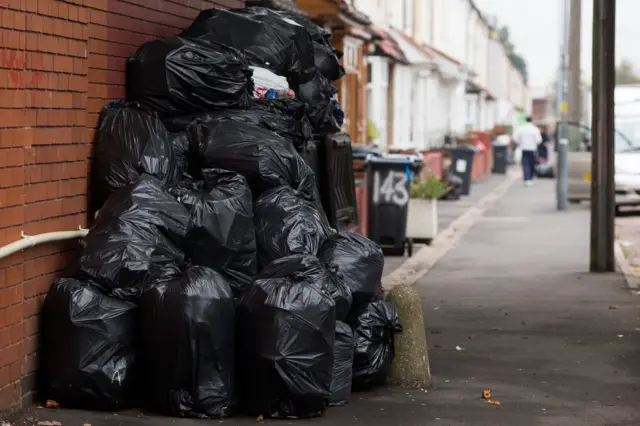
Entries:
[[309,418],[325,410],[335,305],[315,282],[316,266],[308,274],[306,264],[300,256],[273,262],[238,306],[239,401],[247,414]]

